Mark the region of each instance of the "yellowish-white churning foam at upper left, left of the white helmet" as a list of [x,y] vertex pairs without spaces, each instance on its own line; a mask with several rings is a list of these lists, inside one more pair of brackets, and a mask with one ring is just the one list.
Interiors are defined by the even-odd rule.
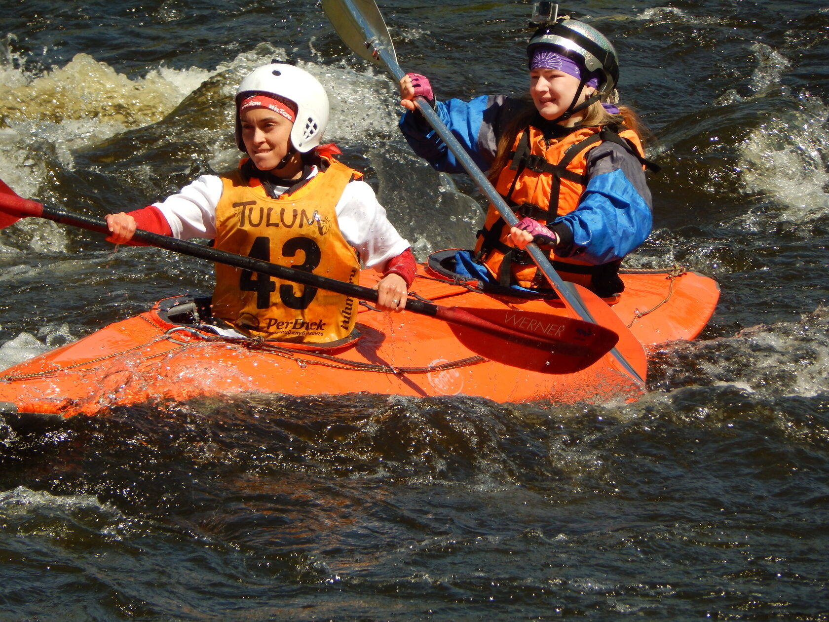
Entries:
[[75,150],[156,123],[211,76],[245,65],[241,55],[215,70],[161,66],[131,78],[88,54],[41,75],[22,60],[0,42],[0,178],[25,197],[46,178],[44,152],[71,170]]

